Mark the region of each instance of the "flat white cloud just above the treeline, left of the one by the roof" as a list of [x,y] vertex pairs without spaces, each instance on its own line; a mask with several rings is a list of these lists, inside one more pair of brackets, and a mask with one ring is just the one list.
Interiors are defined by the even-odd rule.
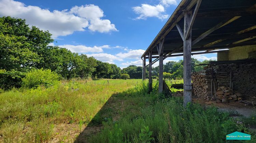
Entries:
[[88,57],[94,57],[95,59],[102,61],[102,62],[108,62],[108,63],[114,63],[114,60],[117,61],[123,61],[123,59],[116,57],[115,55],[108,54],[108,53],[94,53],[94,54],[86,54]]

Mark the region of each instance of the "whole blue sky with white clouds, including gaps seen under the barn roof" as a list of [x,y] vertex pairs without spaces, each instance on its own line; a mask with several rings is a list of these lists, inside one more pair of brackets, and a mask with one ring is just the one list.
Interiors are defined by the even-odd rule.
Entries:
[[[0,0],[0,16],[23,18],[49,30],[55,42],[73,52],[124,68],[142,65],[141,55],[180,0]],[[192,56],[202,61],[216,54]],[[182,57],[167,58],[180,60]],[[153,66],[157,66],[155,63]]]

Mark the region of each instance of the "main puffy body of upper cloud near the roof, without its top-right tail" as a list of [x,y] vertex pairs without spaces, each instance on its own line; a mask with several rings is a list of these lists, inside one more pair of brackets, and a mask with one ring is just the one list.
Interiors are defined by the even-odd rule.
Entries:
[[141,6],[132,7],[133,11],[140,16],[135,19],[146,19],[147,17],[157,17],[159,19],[166,19],[168,15],[162,14],[165,12],[165,7],[162,5],[150,5],[150,4],[141,4]]

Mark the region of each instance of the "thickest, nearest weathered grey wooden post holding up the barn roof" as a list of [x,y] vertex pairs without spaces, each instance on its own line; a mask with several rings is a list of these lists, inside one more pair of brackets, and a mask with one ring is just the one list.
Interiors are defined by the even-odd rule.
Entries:
[[[191,87],[191,31],[188,32],[192,18],[192,11],[185,12],[184,15],[184,42],[183,42],[183,81],[184,81],[184,107],[192,101]],[[185,36],[188,35],[188,38]]]

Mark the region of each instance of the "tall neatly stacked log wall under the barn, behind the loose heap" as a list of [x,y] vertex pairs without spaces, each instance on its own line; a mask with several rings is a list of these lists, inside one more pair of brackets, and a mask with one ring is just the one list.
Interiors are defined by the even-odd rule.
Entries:
[[[192,73],[195,96],[210,100],[215,97],[215,92],[218,92],[219,94],[216,94],[221,96],[218,96],[217,99],[223,100],[222,102],[232,102],[233,98],[233,101],[242,99],[242,97],[251,98],[256,95],[255,71],[255,63],[208,65],[203,71]],[[233,94],[229,94],[233,97],[229,97],[229,95],[227,97],[229,92],[226,92],[226,95],[224,95],[225,93],[220,94],[227,90],[226,88],[233,91]],[[239,93],[239,96],[236,93]]]

